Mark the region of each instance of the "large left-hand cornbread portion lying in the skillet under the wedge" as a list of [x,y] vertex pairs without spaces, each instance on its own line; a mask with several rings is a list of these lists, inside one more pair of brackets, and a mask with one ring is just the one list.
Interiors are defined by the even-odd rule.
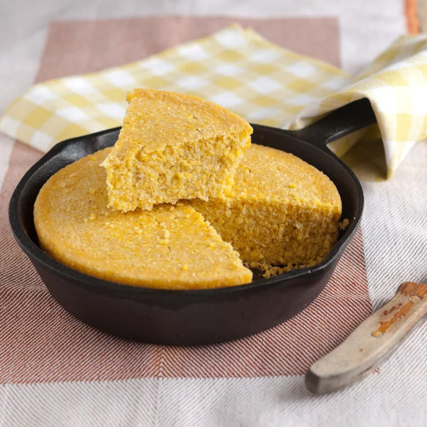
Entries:
[[221,288],[249,283],[251,270],[191,206],[122,214],[107,208],[110,148],[60,169],[34,205],[46,253],[83,273],[149,288]]

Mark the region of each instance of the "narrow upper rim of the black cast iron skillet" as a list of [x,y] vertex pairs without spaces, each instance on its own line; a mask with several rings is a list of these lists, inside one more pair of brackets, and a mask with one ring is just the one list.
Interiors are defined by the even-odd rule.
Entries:
[[[251,124],[254,130],[258,129],[264,129],[269,130],[273,132],[279,132],[280,129],[274,128],[274,127],[268,127],[263,125],[255,125]],[[342,251],[342,248],[347,246],[349,241],[352,240],[354,237],[354,234],[357,231],[357,228],[359,228],[359,223],[362,218],[363,208],[364,208],[364,194],[362,190],[362,185],[359,182],[359,179],[357,179],[357,176],[354,174],[352,169],[350,169],[347,164],[342,162],[339,157],[337,157],[334,153],[330,151],[326,146],[325,147],[319,147],[315,146],[317,149],[321,149],[323,152],[325,152],[327,155],[329,155],[335,162],[339,162],[342,167],[352,176],[352,179],[354,181],[354,184],[357,188],[357,194],[359,196],[359,204],[357,206],[357,215],[354,217],[354,220],[352,221],[352,225],[349,226],[348,230],[344,233],[344,236],[335,243],[334,247],[330,251],[330,253],[322,260],[321,263],[314,265],[313,267],[307,267],[307,268],[297,268],[295,270],[291,270],[285,273],[282,273],[280,275],[277,275],[273,278],[268,279],[259,279],[255,280],[251,283],[246,283],[243,285],[234,285],[229,286],[225,288],[212,288],[212,289],[199,289],[199,290],[169,290],[169,289],[157,289],[157,288],[144,288],[139,286],[132,286],[132,285],[125,285],[122,283],[116,283],[116,282],[110,282],[109,280],[103,280],[100,278],[96,278],[95,276],[87,275],[85,273],[81,273],[78,270],[74,270],[73,268],[67,267],[66,265],[63,265],[61,263],[58,263],[58,261],[51,258],[49,255],[47,255],[45,252],[39,248],[36,243],[34,243],[31,238],[27,235],[25,230],[23,229],[23,226],[21,226],[21,222],[19,220],[18,216],[18,206],[19,206],[19,200],[21,199],[21,193],[23,189],[25,188],[26,184],[28,183],[28,180],[33,176],[33,174],[36,173],[36,171],[43,166],[46,162],[48,162],[50,159],[55,157],[57,154],[59,154],[63,149],[66,147],[75,144],[76,142],[81,142],[82,139],[86,138],[93,138],[93,137],[100,137],[102,135],[106,135],[110,132],[115,132],[117,130],[120,130],[120,127],[115,127],[108,130],[102,130],[100,132],[95,132],[90,135],[83,135],[81,137],[75,137],[71,139],[67,139],[63,142],[60,142],[56,144],[51,150],[49,150],[46,154],[41,157],[41,159],[38,160],[33,166],[28,169],[26,174],[23,175],[21,180],[19,181],[19,184],[16,186],[16,189],[14,190],[14,193],[11,196],[11,200],[9,202],[9,223],[11,225],[12,232],[14,233],[14,237],[16,238],[16,241],[18,241],[19,246],[23,249],[23,251],[27,255],[31,255],[32,257],[36,258],[36,260],[43,265],[43,267],[48,268],[49,270],[53,270],[58,275],[63,275],[67,279],[74,280],[79,285],[88,285],[91,288],[96,288],[97,291],[112,291],[117,292],[118,295],[121,295],[123,299],[129,299],[129,297],[137,296],[137,295],[181,295],[182,297],[188,296],[188,297],[203,297],[203,296],[209,296],[213,294],[224,294],[229,292],[238,292],[238,291],[244,291],[248,289],[258,288],[258,287],[264,287],[268,285],[273,285],[275,283],[283,282],[283,285],[285,285],[285,282],[291,278],[297,278],[303,275],[309,275],[310,273],[315,273],[320,270],[324,270],[327,268],[330,263],[334,262],[334,259],[339,255],[339,253]],[[290,136],[300,139],[297,137],[297,135],[292,135],[290,132]],[[303,139],[301,139],[302,142],[306,142]]]

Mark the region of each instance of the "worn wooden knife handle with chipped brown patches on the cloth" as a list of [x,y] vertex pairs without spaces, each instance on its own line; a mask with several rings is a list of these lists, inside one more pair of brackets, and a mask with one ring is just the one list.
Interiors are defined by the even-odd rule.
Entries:
[[364,379],[393,354],[427,315],[427,285],[405,282],[336,349],[307,371],[315,394],[332,393]]

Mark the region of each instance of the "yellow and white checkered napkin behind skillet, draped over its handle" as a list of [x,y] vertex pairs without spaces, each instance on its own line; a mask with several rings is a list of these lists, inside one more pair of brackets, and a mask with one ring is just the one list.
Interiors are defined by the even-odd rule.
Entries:
[[[174,90],[245,117],[298,128],[369,97],[384,140],[389,176],[426,137],[427,36],[404,37],[356,80],[319,60],[231,26],[144,60],[34,85],[0,120],[0,130],[46,152],[56,142],[120,126],[133,88]],[[354,138],[334,144],[343,154]]]

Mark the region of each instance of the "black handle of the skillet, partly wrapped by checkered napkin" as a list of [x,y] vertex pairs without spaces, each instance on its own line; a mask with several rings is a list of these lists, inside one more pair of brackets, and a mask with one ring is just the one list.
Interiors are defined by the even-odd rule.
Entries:
[[345,137],[376,122],[371,102],[367,98],[351,102],[303,129],[292,132],[295,137],[324,147],[329,142]]

